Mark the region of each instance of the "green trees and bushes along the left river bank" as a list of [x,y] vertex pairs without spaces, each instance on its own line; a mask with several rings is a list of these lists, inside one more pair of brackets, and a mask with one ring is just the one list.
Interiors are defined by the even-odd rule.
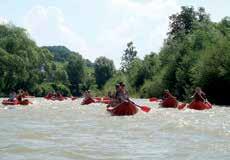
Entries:
[[[108,80],[114,72],[102,65]],[[106,68],[108,67],[108,68]],[[110,73],[111,71],[111,73]],[[28,90],[36,96],[60,91],[80,95],[86,89],[97,89],[94,64],[64,46],[38,47],[27,32],[11,24],[0,25],[0,95]]]

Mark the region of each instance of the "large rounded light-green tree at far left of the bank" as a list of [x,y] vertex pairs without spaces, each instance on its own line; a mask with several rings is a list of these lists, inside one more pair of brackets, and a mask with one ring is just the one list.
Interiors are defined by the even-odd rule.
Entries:
[[1,91],[7,94],[19,88],[30,89],[39,82],[40,67],[52,56],[36,46],[26,31],[14,25],[0,25]]

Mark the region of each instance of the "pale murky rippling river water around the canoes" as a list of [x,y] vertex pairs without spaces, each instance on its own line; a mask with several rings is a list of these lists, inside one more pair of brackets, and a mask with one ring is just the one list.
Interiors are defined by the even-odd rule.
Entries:
[[0,105],[0,159],[229,159],[230,108],[178,111],[136,100],[152,110],[116,117],[104,104],[80,102]]

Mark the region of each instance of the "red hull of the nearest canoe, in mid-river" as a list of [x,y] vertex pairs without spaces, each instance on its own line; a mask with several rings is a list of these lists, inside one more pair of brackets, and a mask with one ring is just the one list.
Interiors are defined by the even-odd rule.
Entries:
[[116,107],[107,108],[107,111],[113,116],[131,116],[138,112],[138,108],[130,102],[123,102]]

